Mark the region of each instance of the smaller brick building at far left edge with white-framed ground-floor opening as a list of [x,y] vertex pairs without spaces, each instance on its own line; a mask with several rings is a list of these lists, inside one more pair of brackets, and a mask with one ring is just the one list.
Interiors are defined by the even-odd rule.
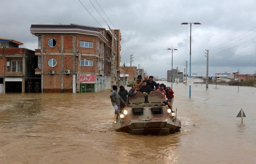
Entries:
[[0,92],[40,92],[35,52],[16,40],[0,38]]

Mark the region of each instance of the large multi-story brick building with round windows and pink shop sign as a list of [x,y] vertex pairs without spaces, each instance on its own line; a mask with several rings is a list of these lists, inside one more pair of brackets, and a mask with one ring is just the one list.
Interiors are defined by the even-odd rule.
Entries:
[[42,92],[99,92],[118,81],[119,30],[90,26],[31,25],[38,37]]

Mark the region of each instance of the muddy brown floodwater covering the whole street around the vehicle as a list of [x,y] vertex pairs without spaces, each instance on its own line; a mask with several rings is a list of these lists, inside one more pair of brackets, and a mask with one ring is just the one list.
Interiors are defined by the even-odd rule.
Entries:
[[215,87],[190,99],[173,83],[182,128],[167,136],[115,132],[110,92],[0,94],[0,164],[254,163],[256,88]]

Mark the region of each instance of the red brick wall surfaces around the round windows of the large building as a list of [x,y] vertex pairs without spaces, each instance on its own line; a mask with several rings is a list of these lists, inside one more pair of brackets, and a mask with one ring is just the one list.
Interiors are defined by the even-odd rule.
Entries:
[[[50,38],[54,38],[57,41],[57,45],[55,47],[48,46],[48,40]],[[63,40],[61,40],[62,38]],[[77,35],[76,43],[74,44],[73,41],[73,35],[63,35],[63,37],[61,37],[61,35],[43,36],[43,92],[72,92],[73,74],[76,74],[76,72],[78,72],[78,58],[74,58],[76,52],[82,53],[81,60],[93,60],[93,66],[81,66],[81,73],[88,74],[99,72],[99,67],[97,67],[97,61],[99,61],[99,58],[97,59],[97,57],[95,57],[95,55],[99,55],[99,50],[97,49],[97,44],[99,44],[99,40],[93,36]],[[93,48],[80,47],[80,41],[93,42]],[[73,45],[76,45],[76,47],[73,48]],[[73,49],[76,52],[73,52]],[[63,55],[62,62],[61,55]],[[57,65],[55,67],[48,66],[48,60],[50,58],[55,58],[57,60]],[[74,59],[76,63],[76,70],[73,70]],[[61,65],[61,63],[63,65]],[[70,69],[70,75],[64,74],[65,69]],[[49,74],[50,70],[54,70],[55,74]],[[63,89],[61,89],[61,77],[63,78]]]

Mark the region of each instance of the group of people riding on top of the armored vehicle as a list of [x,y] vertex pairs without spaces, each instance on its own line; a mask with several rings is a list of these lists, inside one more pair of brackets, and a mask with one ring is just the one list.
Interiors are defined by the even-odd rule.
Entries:
[[153,81],[153,76],[144,76],[144,80],[142,81],[142,76],[138,75],[137,80],[131,86],[129,92],[125,89],[124,86],[119,87],[119,92],[117,92],[117,86],[113,85],[113,91],[110,94],[111,103],[115,109],[114,112],[114,124],[117,121],[118,111],[120,110],[120,106],[124,105],[127,106],[126,103],[129,103],[129,97],[134,96],[137,92],[142,92],[145,96],[145,102],[148,102],[148,95],[152,91],[158,91],[163,94],[163,99],[166,101],[170,101],[173,104],[174,101],[174,92],[170,87],[166,87],[163,83],[159,84]]

